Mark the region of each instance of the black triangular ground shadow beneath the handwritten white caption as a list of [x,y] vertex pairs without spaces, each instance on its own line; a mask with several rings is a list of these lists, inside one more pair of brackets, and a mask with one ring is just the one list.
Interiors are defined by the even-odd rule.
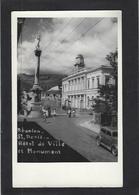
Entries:
[[18,122],[18,162],[88,162],[35,122]]

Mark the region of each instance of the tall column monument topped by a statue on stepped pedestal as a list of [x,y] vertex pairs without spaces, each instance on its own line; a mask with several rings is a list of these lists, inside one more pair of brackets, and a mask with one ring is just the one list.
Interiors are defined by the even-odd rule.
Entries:
[[41,106],[41,91],[42,88],[39,84],[39,77],[40,77],[40,56],[41,56],[41,49],[40,49],[40,35],[37,36],[37,46],[34,51],[35,56],[37,57],[37,65],[35,67],[35,74],[34,74],[34,84],[31,89],[33,92],[32,100],[31,100],[31,112],[29,117],[39,117],[40,116],[40,106]]

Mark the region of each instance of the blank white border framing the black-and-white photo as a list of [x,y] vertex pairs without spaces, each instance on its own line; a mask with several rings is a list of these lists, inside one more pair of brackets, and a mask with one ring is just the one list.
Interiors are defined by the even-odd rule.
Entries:
[[[122,187],[122,12],[15,11],[12,26],[12,181],[13,187]],[[18,163],[17,162],[17,18],[18,17],[117,17],[118,18],[118,162]]]

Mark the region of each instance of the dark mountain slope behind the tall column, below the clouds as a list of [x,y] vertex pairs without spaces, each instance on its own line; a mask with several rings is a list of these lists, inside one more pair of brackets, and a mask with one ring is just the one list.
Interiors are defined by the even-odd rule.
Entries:
[[[44,91],[49,90],[51,87],[62,85],[62,79],[67,75],[48,73],[40,75],[40,86]],[[20,90],[29,91],[34,83],[34,75],[18,74],[18,79],[20,78]]]

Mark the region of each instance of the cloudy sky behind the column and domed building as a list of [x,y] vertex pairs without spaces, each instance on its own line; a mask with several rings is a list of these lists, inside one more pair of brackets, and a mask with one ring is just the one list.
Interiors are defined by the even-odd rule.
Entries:
[[26,18],[18,42],[18,73],[34,73],[38,34],[41,74],[69,74],[78,54],[87,68],[108,65],[106,55],[117,48],[116,18]]

